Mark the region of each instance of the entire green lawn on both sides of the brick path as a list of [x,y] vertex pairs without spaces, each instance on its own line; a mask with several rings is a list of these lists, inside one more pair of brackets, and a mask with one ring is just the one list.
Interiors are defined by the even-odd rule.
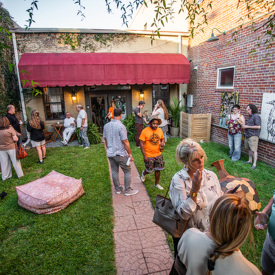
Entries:
[[[181,169],[175,162],[175,148],[180,139],[168,139],[164,147],[166,169],[160,183],[168,188],[170,179]],[[231,162],[229,148],[216,143],[201,144],[211,162],[225,158],[225,169],[230,175],[248,177],[256,184],[262,206],[272,197],[275,169],[258,163],[256,170],[250,165]],[[144,169],[143,157],[135,142],[131,148],[137,169]],[[84,150],[78,146],[47,148],[44,164],[38,160],[35,149],[28,150],[28,157],[21,160],[24,177],[1,181],[0,192],[8,196],[0,200],[0,274],[116,274],[113,241],[113,208],[107,157],[103,144],[91,145]],[[241,160],[248,160],[242,155]],[[56,170],[64,175],[83,179],[85,194],[64,210],[55,214],[34,214],[18,206],[15,186],[26,184]],[[147,175],[145,186],[155,206],[155,195],[165,190],[153,187],[153,175]],[[261,269],[260,257],[265,231],[253,229],[254,245],[247,258]],[[168,236],[168,241],[172,239]],[[241,250],[248,251],[249,242]],[[173,249],[173,245],[171,245]]]

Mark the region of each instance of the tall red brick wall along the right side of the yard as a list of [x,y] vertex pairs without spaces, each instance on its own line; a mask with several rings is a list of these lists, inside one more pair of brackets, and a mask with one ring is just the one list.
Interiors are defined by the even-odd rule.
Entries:
[[[188,58],[192,58],[192,61],[188,94],[193,95],[195,104],[195,107],[191,109],[192,113],[212,114],[211,140],[228,146],[227,130],[217,126],[221,110],[221,93],[223,91],[239,92],[239,105],[246,120],[248,119],[245,111],[247,104],[255,104],[261,114],[263,93],[274,93],[275,50],[270,49],[267,52],[265,46],[261,46],[256,48],[253,56],[249,54],[255,43],[254,39],[261,34],[262,30],[252,32],[251,25],[247,24],[239,31],[234,41],[232,28],[237,25],[236,19],[243,16],[244,9],[240,7],[236,10],[237,1],[234,0],[226,1],[224,6],[217,5],[216,0],[213,2],[213,7],[218,8],[214,8],[210,13],[205,34],[199,35],[199,39],[190,40]],[[256,21],[255,28],[261,26],[265,20]],[[210,37],[212,28],[226,31],[227,34],[219,36],[219,41],[203,42]],[[265,58],[267,53],[270,56]],[[198,71],[193,69],[197,64]],[[228,66],[235,66],[234,89],[217,89],[217,69]],[[275,166],[274,147],[274,143],[260,140],[259,160]]]

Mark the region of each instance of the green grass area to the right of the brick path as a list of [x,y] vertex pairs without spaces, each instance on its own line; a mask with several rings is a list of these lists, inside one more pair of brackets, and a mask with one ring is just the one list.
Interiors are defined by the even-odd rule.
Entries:
[[[164,147],[163,155],[165,161],[165,170],[161,172],[159,183],[164,187],[164,190],[159,190],[153,186],[155,183],[155,177],[153,174],[147,175],[146,180],[144,182],[146,189],[148,191],[149,196],[151,197],[151,202],[155,207],[155,195],[161,194],[165,195],[166,190],[170,184],[170,179],[173,177],[178,170],[181,170],[182,166],[179,166],[175,161],[175,150],[177,148],[177,144],[179,144],[181,140],[178,137],[169,138],[168,142],[166,142],[166,146]],[[247,161],[248,156],[241,154],[241,159],[239,162],[231,162],[231,159],[228,157],[229,148],[223,146],[221,144],[217,144],[214,142],[203,143],[201,144],[204,151],[206,151],[207,161],[205,164],[205,168],[208,170],[212,170],[219,177],[219,173],[216,168],[210,166],[210,164],[218,159],[225,159],[224,166],[225,170],[229,173],[229,175],[238,176],[238,177],[246,177],[251,179],[256,185],[256,189],[259,192],[259,197],[261,199],[261,206],[266,206],[267,202],[270,200],[274,193],[274,176],[275,169],[267,166],[267,164],[263,164],[261,162],[257,162],[256,170],[250,169],[250,164],[243,164],[241,161]],[[140,149],[135,147],[135,143],[131,142],[132,154],[135,160],[135,165],[137,166],[137,170],[142,173],[144,170],[144,162]],[[242,245],[241,251],[246,258],[254,263],[261,270],[261,251],[263,248],[263,242],[265,241],[266,231],[256,230],[252,227],[252,235],[254,236],[254,242],[250,248],[250,238]],[[168,242],[170,244],[171,250],[173,250],[173,240],[170,235],[168,235]],[[250,248],[250,250],[249,250]],[[248,251],[249,250],[249,251]]]

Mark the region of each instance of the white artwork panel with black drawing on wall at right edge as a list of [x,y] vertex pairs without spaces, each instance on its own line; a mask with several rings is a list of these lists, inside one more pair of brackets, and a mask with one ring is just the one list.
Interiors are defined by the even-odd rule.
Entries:
[[263,94],[261,119],[260,138],[275,142],[275,94]]

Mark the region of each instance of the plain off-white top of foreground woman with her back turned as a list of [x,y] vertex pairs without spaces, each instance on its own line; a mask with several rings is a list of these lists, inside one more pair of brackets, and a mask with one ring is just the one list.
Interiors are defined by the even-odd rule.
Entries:
[[[205,232],[197,228],[186,230],[177,245],[179,259],[187,268],[186,275],[205,275],[208,270],[207,260],[215,246],[217,243],[208,238]],[[217,259],[212,274],[261,275],[261,272],[238,250],[230,256]]]

